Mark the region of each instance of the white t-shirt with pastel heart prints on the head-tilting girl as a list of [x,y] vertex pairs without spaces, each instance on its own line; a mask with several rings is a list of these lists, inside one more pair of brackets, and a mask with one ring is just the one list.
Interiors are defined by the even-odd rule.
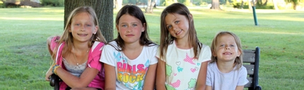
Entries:
[[[159,58],[160,49],[156,57]],[[194,58],[192,49],[178,49],[175,41],[168,46],[165,62],[165,86],[167,89],[195,89],[201,63],[211,60],[209,46],[202,45],[199,59]]]

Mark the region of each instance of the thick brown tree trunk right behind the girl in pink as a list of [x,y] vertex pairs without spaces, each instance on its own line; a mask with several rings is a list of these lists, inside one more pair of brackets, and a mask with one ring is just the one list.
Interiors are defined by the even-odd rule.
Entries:
[[64,0],[64,27],[66,19],[75,8],[91,6],[97,15],[99,29],[107,41],[113,39],[113,0]]

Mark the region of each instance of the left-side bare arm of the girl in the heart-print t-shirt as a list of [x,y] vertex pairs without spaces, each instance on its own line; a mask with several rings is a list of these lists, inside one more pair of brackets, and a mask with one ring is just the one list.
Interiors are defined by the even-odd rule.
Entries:
[[156,72],[156,89],[165,90],[165,62],[159,58]]

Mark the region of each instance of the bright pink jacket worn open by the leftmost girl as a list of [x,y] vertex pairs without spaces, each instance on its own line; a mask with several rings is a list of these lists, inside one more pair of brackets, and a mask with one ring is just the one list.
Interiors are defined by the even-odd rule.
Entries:
[[[57,47],[57,42],[56,40],[59,39],[60,37],[54,37],[51,41],[50,44],[50,49],[52,51],[54,51],[55,47]],[[59,48],[56,52],[56,55],[58,54],[58,56],[56,57],[57,61],[57,65],[61,65],[62,68],[64,68],[64,63],[62,63],[62,49],[64,47],[64,42],[62,44],[59,44]],[[95,41],[93,46],[90,49],[90,52],[88,53],[88,65],[87,68],[95,68],[99,71],[98,75],[96,75],[96,77],[93,79],[92,82],[90,82],[90,84],[88,84],[88,87],[94,87],[94,88],[99,88],[99,89],[104,89],[105,87],[105,72],[104,70],[101,70],[102,68],[102,63],[99,62],[100,60],[100,55],[101,55],[101,48],[103,47],[103,42],[99,42],[99,41]],[[66,68],[64,68],[66,69]],[[61,82],[60,84],[60,90],[62,89],[66,89],[67,85],[64,82]]]

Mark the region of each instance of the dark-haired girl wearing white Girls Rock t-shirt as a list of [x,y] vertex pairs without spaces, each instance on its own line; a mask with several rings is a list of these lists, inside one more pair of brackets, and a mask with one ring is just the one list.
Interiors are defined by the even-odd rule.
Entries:
[[144,13],[138,6],[126,5],[117,13],[117,38],[103,47],[105,89],[154,89],[156,51],[147,33]]

